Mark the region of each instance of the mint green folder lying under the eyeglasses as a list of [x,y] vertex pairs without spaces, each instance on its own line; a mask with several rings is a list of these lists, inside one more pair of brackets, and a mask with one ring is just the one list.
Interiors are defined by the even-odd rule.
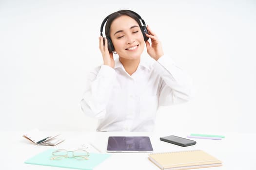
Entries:
[[26,164],[44,165],[78,170],[93,170],[98,164],[107,159],[110,154],[90,153],[89,160],[78,160],[74,157],[61,160],[51,160],[52,152],[56,149],[49,149],[26,160]]

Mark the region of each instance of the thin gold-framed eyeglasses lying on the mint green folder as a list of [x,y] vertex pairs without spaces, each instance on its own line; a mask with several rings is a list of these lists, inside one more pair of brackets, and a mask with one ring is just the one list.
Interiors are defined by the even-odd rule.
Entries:
[[[72,153],[72,154],[69,154]],[[90,153],[88,153],[87,151],[83,150],[83,149],[78,149],[75,151],[67,151],[65,149],[58,149],[56,151],[54,151],[52,153],[52,157],[51,160],[60,160],[63,158],[68,158],[68,157],[74,157],[78,160],[88,160]]]

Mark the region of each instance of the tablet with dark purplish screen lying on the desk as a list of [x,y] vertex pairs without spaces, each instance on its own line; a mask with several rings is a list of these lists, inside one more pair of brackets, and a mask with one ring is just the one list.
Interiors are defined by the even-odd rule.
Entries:
[[148,136],[109,136],[107,152],[150,153],[153,148]]

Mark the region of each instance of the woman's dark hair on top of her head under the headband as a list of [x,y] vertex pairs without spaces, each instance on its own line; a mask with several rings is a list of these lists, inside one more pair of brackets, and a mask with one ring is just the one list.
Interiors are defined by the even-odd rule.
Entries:
[[111,26],[112,22],[121,16],[128,16],[128,17],[133,18],[134,20],[136,20],[136,22],[138,22],[138,25],[141,28],[141,23],[140,23],[138,16],[136,16],[130,10],[120,10],[120,11],[114,12],[108,16],[108,20],[107,20],[107,23],[105,26],[105,35],[106,36],[110,37],[110,26]]

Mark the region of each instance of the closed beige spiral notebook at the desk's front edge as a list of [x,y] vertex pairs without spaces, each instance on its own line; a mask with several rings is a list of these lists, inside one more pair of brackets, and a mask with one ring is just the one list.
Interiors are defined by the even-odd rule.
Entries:
[[188,170],[222,166],[222,162],[201,150],[151,153],[149,160],[161,170]]

